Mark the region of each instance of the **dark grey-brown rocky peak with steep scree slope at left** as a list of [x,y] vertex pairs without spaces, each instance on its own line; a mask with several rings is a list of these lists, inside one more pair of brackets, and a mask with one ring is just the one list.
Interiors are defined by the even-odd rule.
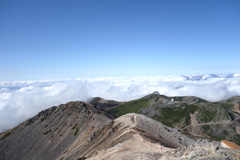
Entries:
[[[69,102],[40,112],[0,137],[0,159],[56,159],[78,138],[112,121],[104,110],[83,102]],[[9,136],[5,136],[8,134]],[[80,151],[80,154],[84,149]]]

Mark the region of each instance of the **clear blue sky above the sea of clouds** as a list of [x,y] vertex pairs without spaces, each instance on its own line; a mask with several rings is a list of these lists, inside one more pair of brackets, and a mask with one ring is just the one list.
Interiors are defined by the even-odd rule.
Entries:
[[238,0],[1,0],[0,80],[239,72]]

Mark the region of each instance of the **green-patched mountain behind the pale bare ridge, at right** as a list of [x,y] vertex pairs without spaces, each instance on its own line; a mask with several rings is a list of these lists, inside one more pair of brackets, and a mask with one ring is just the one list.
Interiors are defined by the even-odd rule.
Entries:
[[119,117],[138,113],[192,137],[227,139],[240,144],[240,97],[208,102],[198,97],[150,94],[108,110]]

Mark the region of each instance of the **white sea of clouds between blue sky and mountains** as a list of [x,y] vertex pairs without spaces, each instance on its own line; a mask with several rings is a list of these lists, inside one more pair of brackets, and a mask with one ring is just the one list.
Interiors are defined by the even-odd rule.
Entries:
[[0,82],[0,132],[43,109],[92,97],[128,101],[154,91],[219,101],[240,95],[240,74]]

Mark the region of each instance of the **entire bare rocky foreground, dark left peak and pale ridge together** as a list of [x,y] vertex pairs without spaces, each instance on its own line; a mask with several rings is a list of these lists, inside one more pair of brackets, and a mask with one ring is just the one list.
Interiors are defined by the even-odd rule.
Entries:
[[144,115],[115,118],[76,101],[51,107],[0,134],[1,160],[240,159],[220,142],[194,140]]

